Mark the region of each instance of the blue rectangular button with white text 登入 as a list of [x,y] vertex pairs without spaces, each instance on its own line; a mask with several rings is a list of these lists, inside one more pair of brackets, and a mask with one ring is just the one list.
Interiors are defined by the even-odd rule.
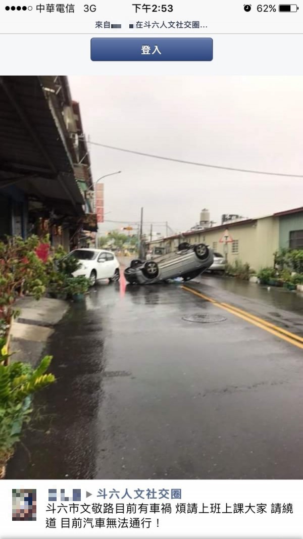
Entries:
[[93,61],[211,61],[212,39],[92,38]]

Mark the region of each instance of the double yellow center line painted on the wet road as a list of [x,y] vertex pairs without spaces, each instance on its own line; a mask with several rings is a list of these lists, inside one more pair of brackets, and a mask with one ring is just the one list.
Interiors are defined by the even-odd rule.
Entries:
[[183,290],[190,292],[191,294],[195,294],[199,298],[202,298],[203,300],[209,301],[210,303],[214,303],[217,307],[227,310],[229,313],[238,316],[239,318],[242,318],[242,320],[245,320],[246,322],[250,322],[251,324],[254,324],[254,326],[257,326],[260,329],[264,329],[265,331],[268,331],[268,333],[271,333],[272,335],[279,337],[283,339],[284,341],[287,341],[290,344],[293,344],[294,346],[297,346],[298,348],[303,349],[303,337],[299,337],[298,335],[295,335],[294,333],[291,333],[290,331],[287,331],[286,329],[279,328],[279,326],[275,326],[271,322],[267,322],[266,320],[263,320],[262,318],[259,318],[258,316],[255,316],[254,314],[247,313],[245,310],[239,309],[238,307],[234,307],[233,305],[229,305],[229,303],[222,303],[221,301],[217,301],[213,298],[209,298],[209,296],[205,296],[204,294],[201,294],[201,292],[198,292],[194,288],[190,288],[188,286],[181,286]]

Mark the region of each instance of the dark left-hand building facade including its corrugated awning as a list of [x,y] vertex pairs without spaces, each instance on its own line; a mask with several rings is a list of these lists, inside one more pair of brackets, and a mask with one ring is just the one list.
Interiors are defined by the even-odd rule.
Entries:
[[89,156],[73,115],[66,77],[0,77],[0,239],[48,233],[69,250],[78,237],[87,205],[75,168]]

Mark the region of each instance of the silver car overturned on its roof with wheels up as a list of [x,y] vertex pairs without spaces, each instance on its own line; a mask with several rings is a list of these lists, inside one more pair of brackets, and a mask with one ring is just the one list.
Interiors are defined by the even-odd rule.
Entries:
[[132,260],[124,275],[130,284],[146,285],[182,277],[194,279],[208,269],[214,260],[212,250],[203,243],[182,243],[174,253],[154,257],[153,260]]

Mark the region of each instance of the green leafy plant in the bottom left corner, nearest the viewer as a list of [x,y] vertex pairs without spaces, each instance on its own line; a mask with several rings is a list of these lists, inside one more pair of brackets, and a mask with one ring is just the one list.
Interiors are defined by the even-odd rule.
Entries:
[[36,369],[22,362],[0,365],[0,468],[11,458],[22,427],[30,420],[33,393],[55,381],[52,374],[45,374],[51,360],[45,356]]

